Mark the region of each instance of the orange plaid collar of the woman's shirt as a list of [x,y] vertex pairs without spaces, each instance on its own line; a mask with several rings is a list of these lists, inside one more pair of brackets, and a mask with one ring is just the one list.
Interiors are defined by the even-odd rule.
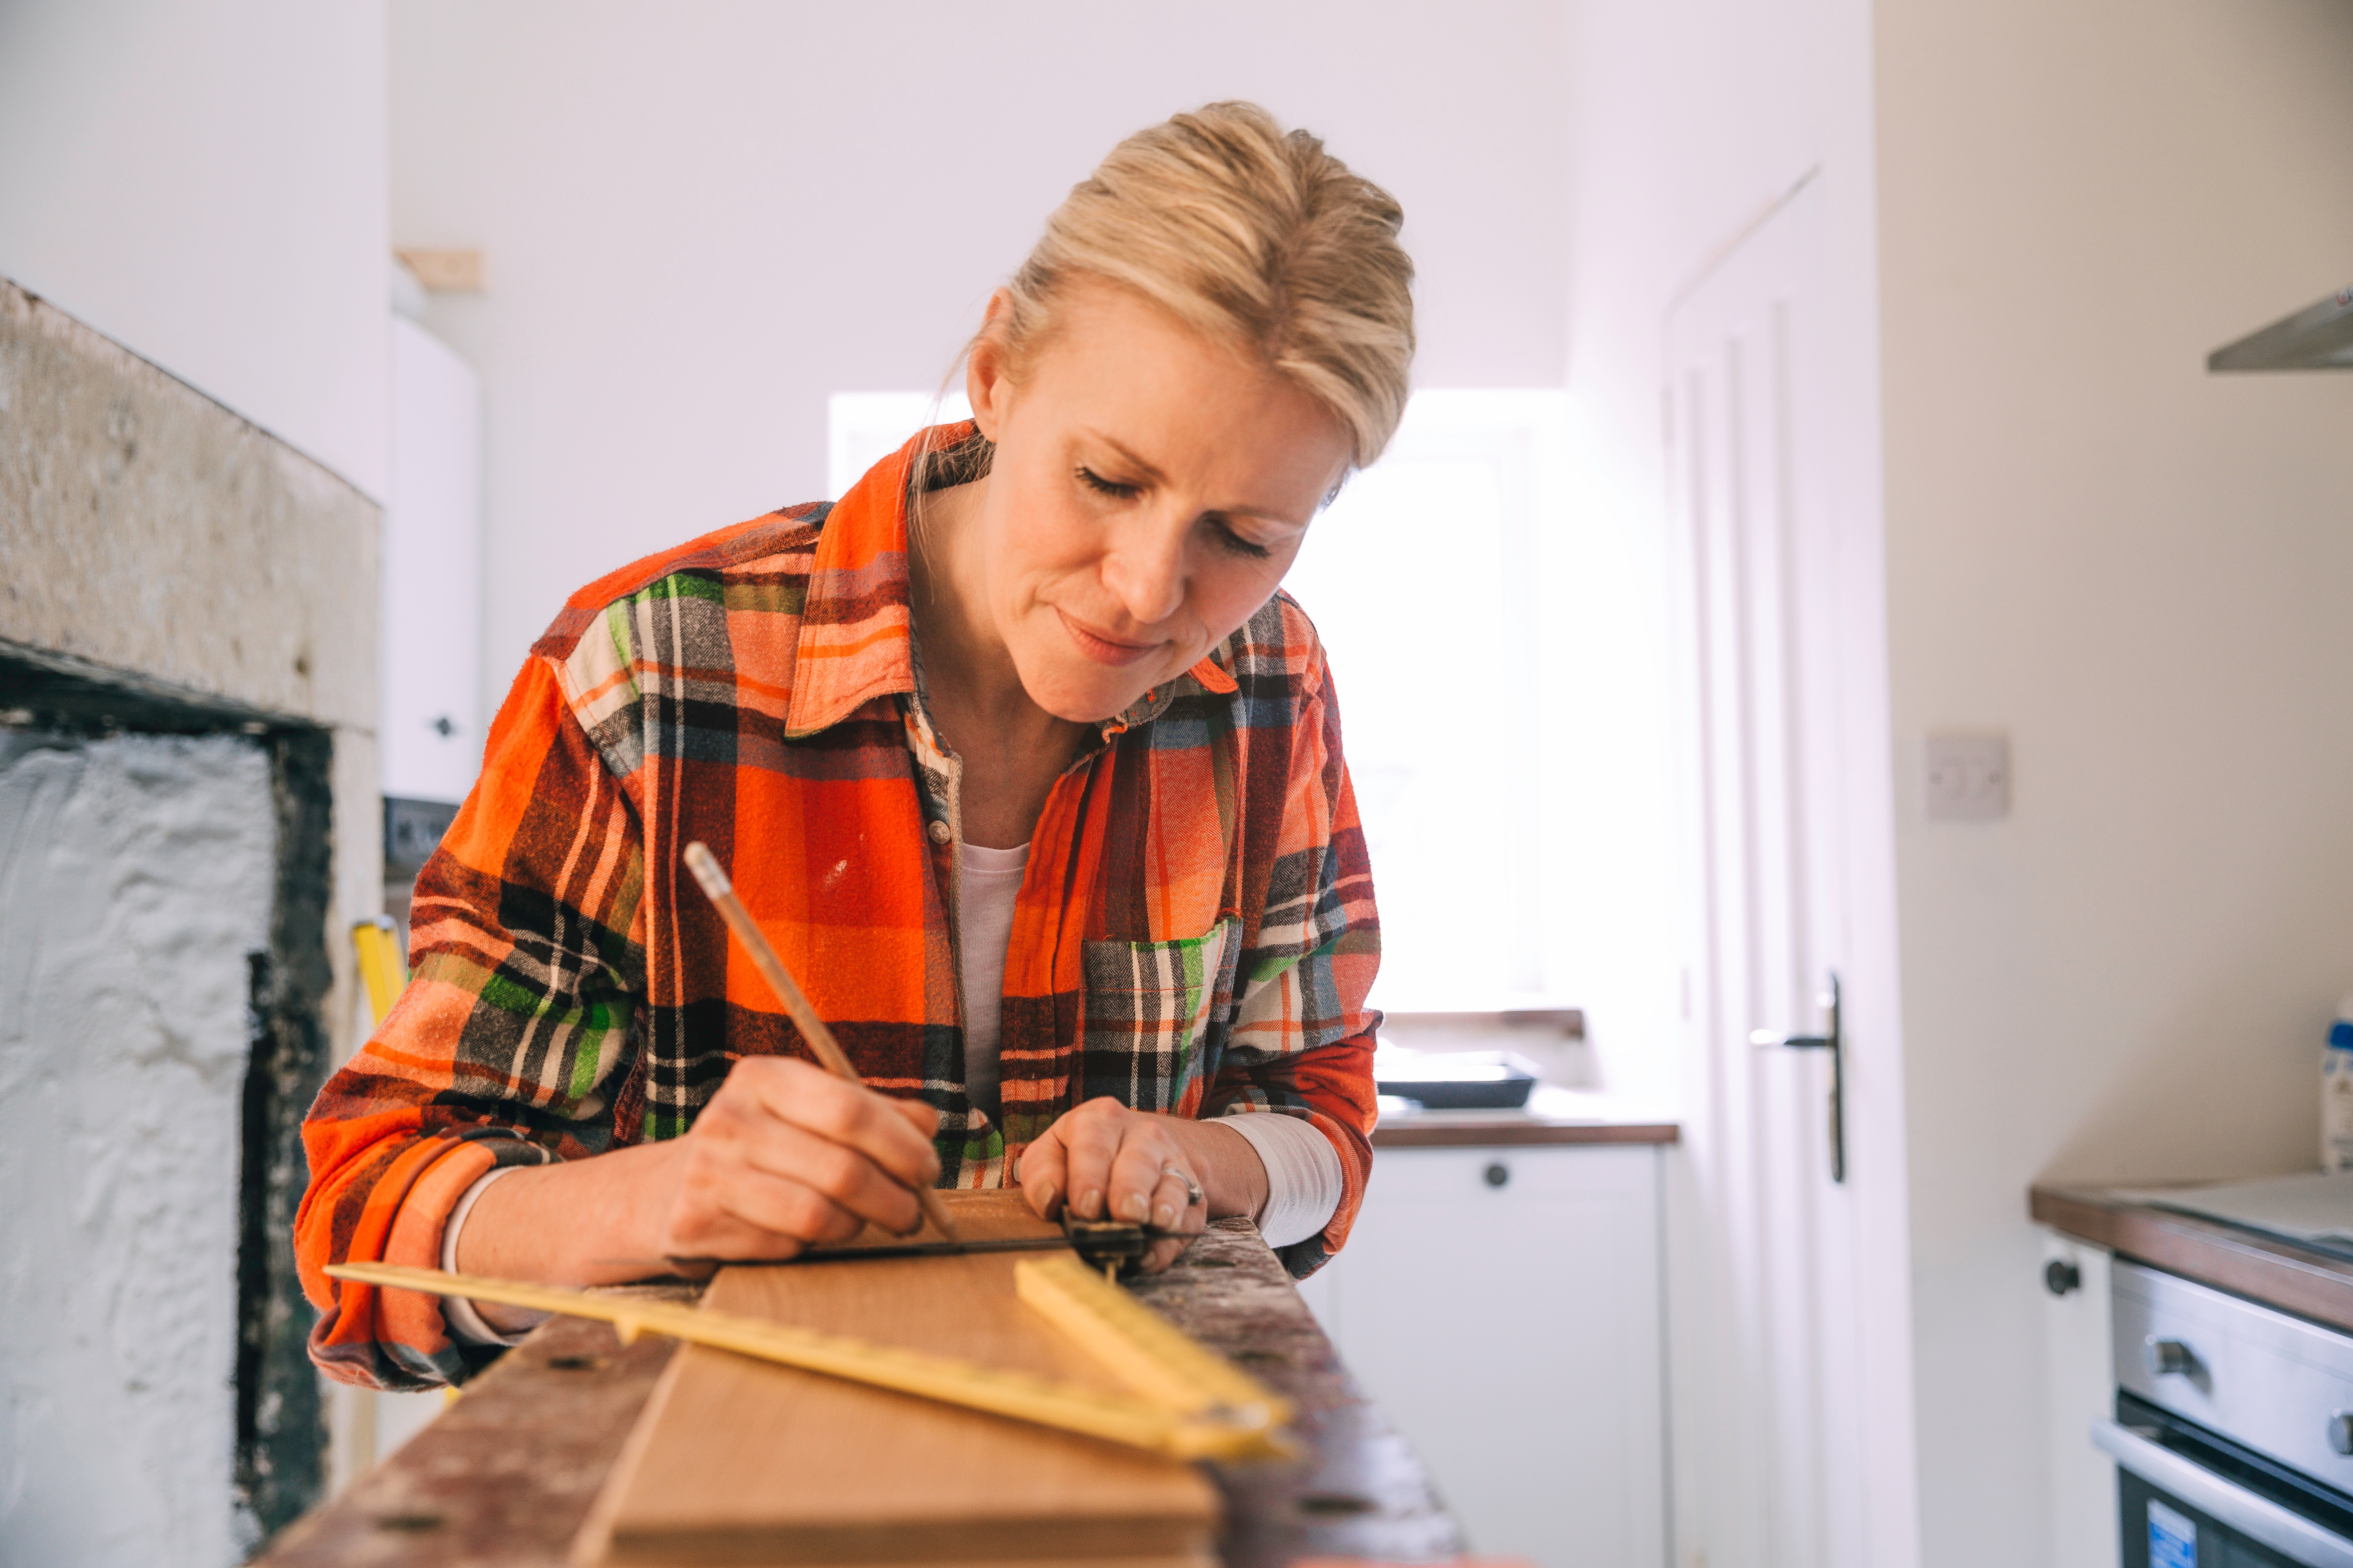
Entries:
[[[849,487],[816,536],[793,651],[793,698],[784,733],[800,738],[840,724],[878,696],[915,691],[913,618],[906,569],[908,468],[918,451],[946,451],[979,428],[967,418],[922,430]],[[1179,696],[1238,691],[1233,639],[1167,679],[1122,715],[1104,722],[1104,738],[1160,717]]]

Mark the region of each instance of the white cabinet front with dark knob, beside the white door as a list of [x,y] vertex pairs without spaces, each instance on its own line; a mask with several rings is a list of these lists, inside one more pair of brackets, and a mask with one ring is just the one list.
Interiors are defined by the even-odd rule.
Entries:
[[1482,1554],[1666,1561],[1652,1145],[1381,1150],[1301,1286]]

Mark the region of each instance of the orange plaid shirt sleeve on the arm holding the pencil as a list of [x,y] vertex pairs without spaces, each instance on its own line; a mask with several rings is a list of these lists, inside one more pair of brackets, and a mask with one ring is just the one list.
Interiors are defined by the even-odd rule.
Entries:
[[329,1375],[431,1387],[494,1354],[454,1342],[435,1298],[334,1281],[329,1262],[438,1267],[485,1173],[640,1138],[642,889],[635,809],[534,656],[416,877],[414,978],[304,1121],[294,1253]]

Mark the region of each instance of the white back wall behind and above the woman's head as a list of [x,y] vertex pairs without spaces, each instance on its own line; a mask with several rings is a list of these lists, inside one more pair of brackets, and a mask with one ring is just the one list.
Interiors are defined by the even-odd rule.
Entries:
[[395,0],[393,237],[480,244],[485,679],[572,588],[826,480],[826,397],[936,386],[1122,134],[1214,96],[1405,202],[1424,386],[1558,386],[1555,0],[1167,9]]

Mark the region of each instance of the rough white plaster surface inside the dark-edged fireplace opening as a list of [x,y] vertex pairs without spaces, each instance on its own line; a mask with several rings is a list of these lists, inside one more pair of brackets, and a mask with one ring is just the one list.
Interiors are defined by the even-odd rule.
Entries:
[[233,1563],[247,954],[271,764],[0,733],[0,1561]]

